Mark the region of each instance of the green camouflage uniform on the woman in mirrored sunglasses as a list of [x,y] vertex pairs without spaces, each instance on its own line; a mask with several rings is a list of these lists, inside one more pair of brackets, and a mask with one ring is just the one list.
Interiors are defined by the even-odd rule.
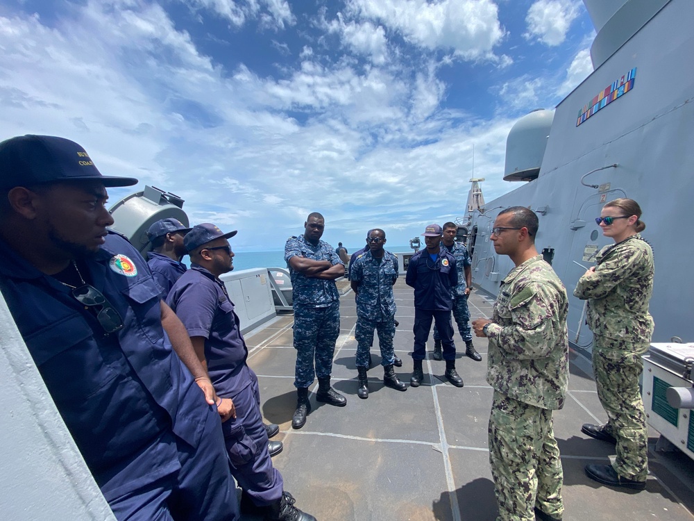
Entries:
[[617,439],[616,472],[645,481],[648,429],[638,379],[641,355],[648,351],[653,319],[653,252],[641,235],[604,247],[595,273],[582,276],[573,294],[588,299],[593,331],[593,371],[598,397],[607,412],[606,430]]

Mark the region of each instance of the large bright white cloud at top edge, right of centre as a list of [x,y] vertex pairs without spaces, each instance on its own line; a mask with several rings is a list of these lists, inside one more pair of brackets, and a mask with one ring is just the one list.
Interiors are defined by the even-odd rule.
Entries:
[[348,0],[348,12],[375,19],[426,49],[452,49],[465,60],[497,60],[498,7],[491,0]]

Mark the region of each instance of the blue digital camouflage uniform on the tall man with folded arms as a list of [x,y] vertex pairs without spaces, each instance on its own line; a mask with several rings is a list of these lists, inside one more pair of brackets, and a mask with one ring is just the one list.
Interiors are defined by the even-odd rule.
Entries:
[[[335,249],[319,240],[314,246],[303,235],[290,237],[285,244],[285,261],[294,256],[342,264]],[[294,299],[294,349],[296,349],[296,379],[294,386],[307,388],[314,377],[330,377],[335,342],[340,334],[340,301],[335,281],[315,279],[293,270],[291,275]],[[315,358],[315,372],[314,372]]]

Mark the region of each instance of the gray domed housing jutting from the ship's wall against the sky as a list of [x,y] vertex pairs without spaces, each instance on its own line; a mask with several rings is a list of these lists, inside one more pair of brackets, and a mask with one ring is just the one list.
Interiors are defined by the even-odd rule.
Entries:
[[554,110],[537,108],[511,128],[506,140],[504,181],[532,181],[540,173]]

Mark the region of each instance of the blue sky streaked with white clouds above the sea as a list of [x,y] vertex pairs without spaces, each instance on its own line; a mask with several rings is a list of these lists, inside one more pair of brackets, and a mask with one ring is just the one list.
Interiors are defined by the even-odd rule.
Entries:
[[[506,138],[593,70],[574,0],[37,1],[0,5],[0,139],[60,135],[192,223],[280,249],[406,245],[489,201]],[[132,189],[110,190],[110,201]]]

